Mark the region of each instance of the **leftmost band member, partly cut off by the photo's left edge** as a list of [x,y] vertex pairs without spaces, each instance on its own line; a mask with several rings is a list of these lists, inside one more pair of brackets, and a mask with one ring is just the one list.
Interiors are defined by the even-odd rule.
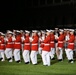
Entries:
[[4,50],[5,50],[5,40],[4,40],[5,34],[0,33],[0,60],[5,61],[5,56],[4,56]]

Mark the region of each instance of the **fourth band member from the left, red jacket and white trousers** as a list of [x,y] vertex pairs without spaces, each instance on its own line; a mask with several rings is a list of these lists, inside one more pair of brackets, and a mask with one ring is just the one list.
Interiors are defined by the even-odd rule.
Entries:
[[25,64],[30,63],[30,31],[25,30],[25,35],[22,37],[22,41],[24,44],[24,49],[23,49],[23,59]]

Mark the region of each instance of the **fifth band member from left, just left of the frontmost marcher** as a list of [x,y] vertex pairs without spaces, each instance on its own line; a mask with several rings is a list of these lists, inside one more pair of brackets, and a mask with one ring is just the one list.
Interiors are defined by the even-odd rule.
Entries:
[[37,54],[38,54],[38,34],[37,30],[32,31],[32,37],[30,37],[31,42],[31,61],[32,64],[37,64]]

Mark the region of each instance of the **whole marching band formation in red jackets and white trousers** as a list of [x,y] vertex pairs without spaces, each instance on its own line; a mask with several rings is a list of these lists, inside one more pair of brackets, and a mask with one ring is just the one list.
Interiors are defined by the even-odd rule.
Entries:
[[40,54],[43,65],[50,66],[55,54],[58,61],[63,61],[65,52],[68,62],[74,63],[75,40],[74,29],[7,30],[5,34],[0,32],[0,61],[6,58],[9,62],[21,63],[22,55],[25,64],[36,65]]

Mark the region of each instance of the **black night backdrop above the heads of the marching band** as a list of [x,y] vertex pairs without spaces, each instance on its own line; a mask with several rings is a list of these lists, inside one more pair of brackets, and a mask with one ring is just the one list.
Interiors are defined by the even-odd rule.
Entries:
[[0,29],[46,29],[76,23],[76,3],[52,5],[50,2],[49,5],[48,2],[48,5],[45,5],[45,0],[41,0],[38,6],[37,1],[0,2]]

